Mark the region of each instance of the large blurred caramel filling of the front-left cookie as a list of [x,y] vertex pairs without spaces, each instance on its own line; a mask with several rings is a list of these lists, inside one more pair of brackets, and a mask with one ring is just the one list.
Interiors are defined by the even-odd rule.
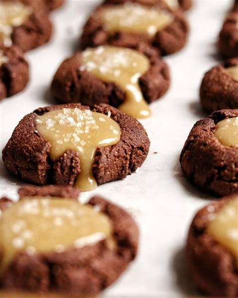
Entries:
[[25,198],[5,209],[0,218],[0,272],[19,252],[29,255],[82,248],[112,241],[112,223],[90,205],[62,198]]

